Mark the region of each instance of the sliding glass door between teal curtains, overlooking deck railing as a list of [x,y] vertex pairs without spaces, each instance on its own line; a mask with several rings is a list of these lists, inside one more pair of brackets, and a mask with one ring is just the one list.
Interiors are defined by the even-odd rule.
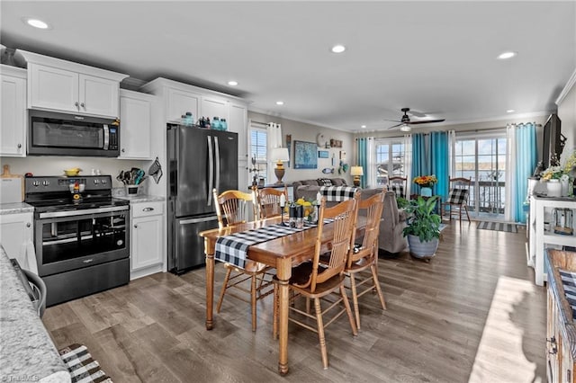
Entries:
[[504,219],[506,133],[457,136],[453,156],[453,176],[470,178],[473,182],[468,200],[471,215]]

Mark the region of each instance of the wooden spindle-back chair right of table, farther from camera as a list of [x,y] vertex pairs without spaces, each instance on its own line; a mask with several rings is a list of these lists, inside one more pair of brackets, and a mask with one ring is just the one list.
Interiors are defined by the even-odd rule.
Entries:
[[[354,314],[356,316],[356,328],[360,329],[360,311],[358,309],[358,298],[362,297],[368,291],[378,293],[382,308],[386,309],[386,302],[384,301],[380,282],[378,281],[378,235],[380,234],[380,220],[382,219],[382,212],[384,209],[384,192],[374,194],[372,197],[365,200],[360,200],[358,203],[358,216],[365,217],[365,232],[362,239],[362,244],[355,245],[356,240],[356,222],[352,230],[351,246],[348,252],[347,264],[344,272],[350,278],[350,290],[352,291],[352,303],[354,307]],[[370,275],[365,275],[366,271],[370,271]],[[356,283],[356,279],[359,281]],[[369,288],[362,289],[358,292],[358,288],[372,281]]]

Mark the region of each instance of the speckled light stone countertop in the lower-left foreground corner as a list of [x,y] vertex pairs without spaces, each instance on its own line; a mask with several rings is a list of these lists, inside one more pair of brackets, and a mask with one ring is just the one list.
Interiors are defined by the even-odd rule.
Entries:
[[70,382],[40,317],[0,245],[0,381]]

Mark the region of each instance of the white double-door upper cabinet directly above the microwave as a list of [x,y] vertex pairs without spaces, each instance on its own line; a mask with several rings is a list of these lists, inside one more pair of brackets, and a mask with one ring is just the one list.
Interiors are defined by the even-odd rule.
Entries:
[[127,77],[20,50],[28,62],[28,107],[118,118]]

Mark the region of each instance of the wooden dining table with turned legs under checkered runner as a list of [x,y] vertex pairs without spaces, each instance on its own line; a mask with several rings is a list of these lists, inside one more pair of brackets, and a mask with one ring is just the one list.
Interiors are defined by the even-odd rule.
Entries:
[[[214,251],[216,240],[220,236],[264,227],[280,223],[280,218],[268,218],[259,221],[247,222],[234,227],[215,228],[202,231],[204,238],[204,252],[206,254],[206,329],[214,326],[213,294],[214,294]],[[361,220],[359,220],[361,222]],[[327,224],[322,230],[322,243],[329,245],[333,237],[332,226]],[[247,259],[265,263],[276,269],[279,287],[279,344],[278,344],[278,372],[281,375],[288,373],[288,281],[292,277],[293,265],[311,260],[318,229],[311,227],[289,236],[281,236],[270,241],[250,245],[247,250]],[[325,239],[324,239],[325,238]],[[328,249],[328,247],[327,247]]]

